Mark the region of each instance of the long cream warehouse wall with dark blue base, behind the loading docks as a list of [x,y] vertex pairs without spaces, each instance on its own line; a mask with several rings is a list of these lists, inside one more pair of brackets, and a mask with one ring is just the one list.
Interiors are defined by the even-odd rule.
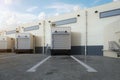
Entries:
[[[35,53],[50,52],[52,46],[51,28],[71,28],[72,55],[114,56],[109,42],[120,44],[120,2],[79,10],[50,17],[45,20],[20,24],[7,29],[4,36],[15,38],[17,33],[31,33],[35,36]],[[1,33],[1,35],[3,35]]]

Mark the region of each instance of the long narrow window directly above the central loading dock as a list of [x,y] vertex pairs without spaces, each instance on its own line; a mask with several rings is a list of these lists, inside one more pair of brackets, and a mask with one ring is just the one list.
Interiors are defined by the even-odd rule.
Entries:
[[60,25],[72,24],[76,22],[77,22],[77,18],[69,18],[69,19],[53,22],[53,24],[55,24],[56,26],[60,26]]

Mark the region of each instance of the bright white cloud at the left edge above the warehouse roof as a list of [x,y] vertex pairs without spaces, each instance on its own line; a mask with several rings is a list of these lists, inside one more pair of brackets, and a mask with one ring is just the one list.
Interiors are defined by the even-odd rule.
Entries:
[[30,13],[18,13],[11,11],[0,11],[0,29],[6,26],[17,26],[20,23],[35,21],[38,19],[36,15]]

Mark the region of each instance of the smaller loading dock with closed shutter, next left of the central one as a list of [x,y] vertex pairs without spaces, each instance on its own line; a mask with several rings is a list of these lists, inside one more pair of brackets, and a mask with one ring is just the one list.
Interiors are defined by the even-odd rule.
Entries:
[[30,33],[18,33],[15,40],[15,52],[16,53],[33,53],[34,39]]

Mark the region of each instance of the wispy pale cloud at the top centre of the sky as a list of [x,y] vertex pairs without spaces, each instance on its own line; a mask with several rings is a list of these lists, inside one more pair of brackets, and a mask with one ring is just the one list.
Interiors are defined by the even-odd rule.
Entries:
[[66,3],[54,3],[53,5],[50,5],[47,7],[47,9],[55,9],[58,13],[65,13],[65,12],[71,12],[76,11],[78,9],[83,8],[84,5],[73,5],[73,4],[66,4]]

